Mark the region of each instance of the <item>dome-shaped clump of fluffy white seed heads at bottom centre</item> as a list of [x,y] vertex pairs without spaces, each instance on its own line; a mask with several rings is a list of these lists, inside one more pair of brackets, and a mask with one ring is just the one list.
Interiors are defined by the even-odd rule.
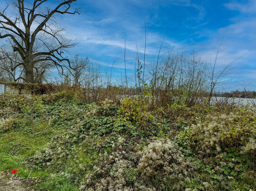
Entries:
[[[196,166],[182,155],[177,144],[169,139],[155,140],[137,155],[141,157],[137,169],[140,179],[144,181],[163,178],[177,182],[191,176],[196,169]],[[162,186],[165,186],[164,182]]]

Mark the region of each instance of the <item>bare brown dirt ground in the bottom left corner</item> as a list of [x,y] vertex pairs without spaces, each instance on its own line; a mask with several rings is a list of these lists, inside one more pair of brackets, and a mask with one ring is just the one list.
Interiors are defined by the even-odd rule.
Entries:
[[13,180],[10,177],[0,174],[0,191],[33,191],[25,186],[22,180]]

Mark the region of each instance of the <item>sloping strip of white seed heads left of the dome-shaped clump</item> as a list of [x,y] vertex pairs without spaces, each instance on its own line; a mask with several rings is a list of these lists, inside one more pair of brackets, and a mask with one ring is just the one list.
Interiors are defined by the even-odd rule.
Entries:
[[[80,190],[86,191],[132,191],[126,186],[129,177],[125,176],[125,169],[132,168],[132,161],[128,160],[130,152],[124,146],[124,138],[118,138],[114,151],[109,155],[104,153],[99,159],[98,167],[88,174],[81,183]],[[96,179],[100,181],[95,182]]]

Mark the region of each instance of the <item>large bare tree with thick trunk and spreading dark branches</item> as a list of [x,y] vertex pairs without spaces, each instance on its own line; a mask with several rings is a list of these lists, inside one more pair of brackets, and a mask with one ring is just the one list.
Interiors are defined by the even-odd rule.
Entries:
[[17,13],[15,17],[8,15],[9,5],[0,11],[0,38],[8,38],[13,51],[19,54],[21,61],[14,68],[24,68],[27,83],[35,82],[35,65],[40,63],[51,62],[61,73],[66,67],[65,62],[72,68],[63,53],[75,43],[64,38],[63,28],[56,29],[54,16],[78,13],[77,9],[70,11],[71,4],[76,0],[59,0],[55,8],[42,9],[46,1],[15,0],[11,4]]

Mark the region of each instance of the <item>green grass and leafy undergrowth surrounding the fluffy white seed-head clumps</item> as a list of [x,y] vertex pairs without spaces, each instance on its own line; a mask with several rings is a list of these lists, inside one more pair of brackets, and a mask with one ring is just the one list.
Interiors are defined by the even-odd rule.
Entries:
[[[196,155],[198,147],[190,143],[193,142],[193,136],[191,137],[193,132],[185,127],[206,120],[206,115],[209,113],[217,113],[217,111],[213,111],[213,108],[196,111],[195,108],[190,110],[184,106],[173,105],[169,110],[161,111],[160,109],[158,114],[153,116],[146,111],[147,108],[140,105],[141,103],[137,104],[140,107],[131,111],[122,107],[118,112],[119,107],[110,105],[108,102],[102,103],[100,107],[94,103],[84,104],[75,99],[74,95],[59,94],[58,96],[41,96],[33,99],[3,96],[0,98],[0,118],[3,119],[0,123],[0,171],[17,169],[18,176],[25,177],[28,176],[25,170],[33,169],[35,172],[31,176],[41,177],[40,183],[34,186],[34,189],[77,191],[80,183],[86,179],[85,176],[94,172],[93,166],[100,164],[98,161],[100,153],[111,153],[115,150],[113,143],[118,142],[118,137],[129,139],[126,147],[130,148],[136,145],[138,153],[144,151],[144,148],[147,148],[152,140],[164,138],[172,139],[177,142],[177,145],[182,145],[180,150],[183,152],[182,156],[186,158],[185,160],[191,160],[193,165],[198,166],[196,176],[193,174],[192,177],[178,181],[181,184],[180,189],[247,191],[256,188],[254,158],[239,163],[240,159],[236,158],[242,156],[241,154],[236,155],[239,144],[236,151],[230,152],[237,142],[222,142],[222,145],[230,144],[229,148],[228,146],[222,148],[222,155],[225,157],[227,153],[235,154],[235,156],[231,156],[231,158],[239,160],[236,160],[235,164],[239,163],[240,166],[247,168],[247,172],[251,172],[245,177],[239,176],[243,173],[241,170],[237,170],[238,175],[231,176],[232,170],[235,171],[233,167],[229,167],[231,170],[228,170],[228,175],[224,172],[223,166],[219,172],[216,172],[214,169],[217,169],[223,156],[220,160],[215,161],[213,158],[216,154],[214,153],[205,156],[205,159],[202,159],[199,154]],[[240,119],[240,121],[242,120]],[[255,125],[255,121],[245,124],[252,126]],[[255,128],[255,126],[253,127]],[[241,133],[253,134],[254,130],[252,132],[241,130]],[[198,135],[198,133],[196,134]],[[206,144],[200,138],[196,141]],[[127,152],[134,152],[131,156],[137,155],[136,149],[128,149]],[[252,153],[253,157],[254,154]],[[227,162],[230,162],[229,158],[226,157],[226,159]],[[137,168],[136,162],[132,162],[132,165],[132,168],[126,168],[128,171],[125,171],[125,175],[129,176],[126,186],[135,188],[136,178],[133,177],[142,179],[144,177],[142,177],[142,171],[137,173],[135,170],[136,173],[134,173],[133,170]],[[115,168],[110,170],[110,176],[111,173],[115,173],[115,170]],[[104,173],[100,176],[107,177],[108,172]],[[220,176],[224,176],[225,179],[222,181],[230,182],[230,186],[222,186],[222,182],[218,181]],[[160,177],[154,176],[155,180],[153,178],[151,181],[152,177],[150,175],[145,178],[146,186],[152,187],[153,185],[160,191],[162,183],[172,185],[172,180],[163,182]],[[203,182],[208,182],[211,186],[206,188]],[[93,184],[91,186],[93,188]],[[172,190],[172,188],[166,186],[163,190]]]

